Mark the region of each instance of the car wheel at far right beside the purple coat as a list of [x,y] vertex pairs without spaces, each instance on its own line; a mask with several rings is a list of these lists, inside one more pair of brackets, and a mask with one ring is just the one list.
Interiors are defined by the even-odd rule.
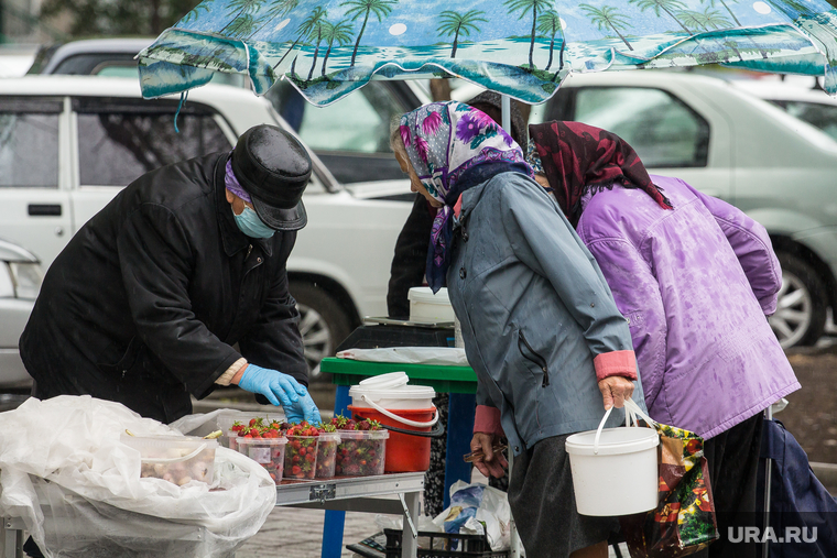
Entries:
[[770,327],[783,349],[814,344],[825,329],[826,291],[817,272],[798,258],[776,254],[782,264],[782,287]]

